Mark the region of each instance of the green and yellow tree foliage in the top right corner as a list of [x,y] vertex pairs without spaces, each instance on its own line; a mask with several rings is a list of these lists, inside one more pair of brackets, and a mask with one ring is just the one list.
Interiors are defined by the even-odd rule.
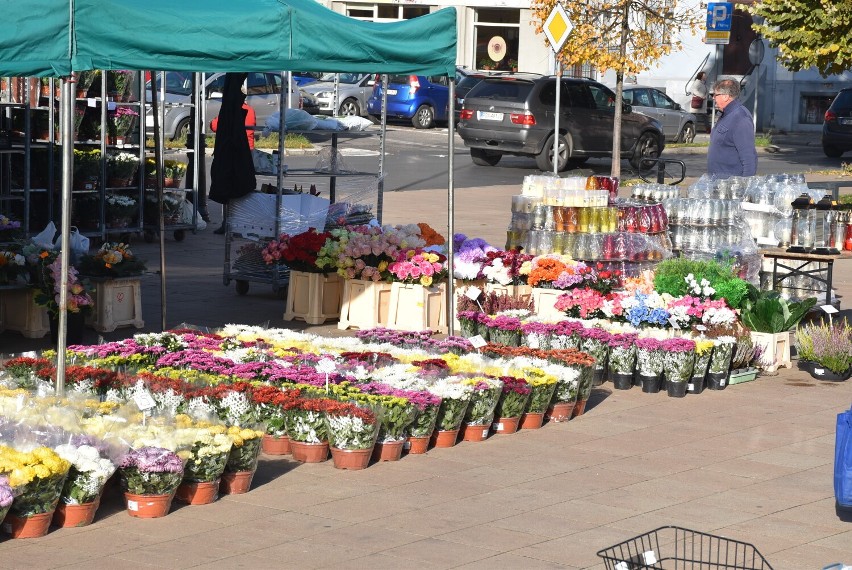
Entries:
[[791,71],[815,67],[823,76],[852,69],[852,2],[849,0],[762,0],[751,13],[754,26],[777,47]]

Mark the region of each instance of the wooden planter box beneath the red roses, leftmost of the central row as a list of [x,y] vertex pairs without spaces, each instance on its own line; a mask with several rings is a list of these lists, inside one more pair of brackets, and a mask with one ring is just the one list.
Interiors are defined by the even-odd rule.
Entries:
[[299,319],[309,325],[321,325],[340,317],[343,279],[337,273],[290,271],[284,320]]

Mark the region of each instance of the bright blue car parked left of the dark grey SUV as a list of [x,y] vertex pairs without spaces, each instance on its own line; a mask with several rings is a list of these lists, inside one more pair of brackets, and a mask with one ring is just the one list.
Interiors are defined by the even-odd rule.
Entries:
[[[418,129],[429,129],[447,121],[450,88],[442,75],[389,75],[388,118],[409,119]],[[382,114],[381,75],[376,77],[373,95],[367,101],[367,113]]]

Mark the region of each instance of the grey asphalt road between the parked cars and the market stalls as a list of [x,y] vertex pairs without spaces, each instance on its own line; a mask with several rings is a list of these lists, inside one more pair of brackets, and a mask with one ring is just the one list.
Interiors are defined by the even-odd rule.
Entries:
[[[810,144],[806,144],[810,143]],[[837,169],[843,159],[830,159],[823,153],[818,135],[811,139],[797,138],[794,144],[781,142],[775,153],[761,149],[758,156],[759,174],[798,173],[814,170]],[[343,162],[349,169],[376,171],[379,163],[379,137],[345,140],[341,137]],[[400,125],[389,125],[385,143],[385,190],[409,191],[446,188],[448,178],[447,129],[418,130]],[[667,149],[664,157],[684,162],[688,179],[698,178],[706,169],[705,148]],[[291,168],[311,168],[318,161],[315,155],[288,156]],[[609,159],[591,159],[578,174],[608,174]],[[632,168],[622,162],[622,178],[635,177]],[[518,185],[527,174],[541,171],[532,158],[504,156],[495,167],[476,166],[470,161],[468,149],[461,138],[455,136],[454,183],[458,189]]]

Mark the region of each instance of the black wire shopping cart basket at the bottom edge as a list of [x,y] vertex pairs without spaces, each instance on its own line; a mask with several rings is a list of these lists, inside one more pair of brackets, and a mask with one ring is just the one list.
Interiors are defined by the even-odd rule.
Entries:
[[751,544],[677,526],[640,534],[598,556],[607,570],[772,570]]

